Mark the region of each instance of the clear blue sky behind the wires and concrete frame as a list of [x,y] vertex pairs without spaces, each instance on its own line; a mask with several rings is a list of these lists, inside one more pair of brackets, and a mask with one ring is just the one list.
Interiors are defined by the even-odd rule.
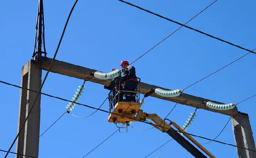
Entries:
[[[185,23],[213,0],[153,1],[129,0],[172,20]],[[0,80],[20,85],[21,67],[31,59],[36,26],[37,1],[0,2]],[[74,3],[69,1],[44,1],[46,49],[53,58],[66,18]],[[247,49],[255,49],[256,2],[218,0],[206,11],[188,23],[213,36],[228,40]],[[66,33],[60,46],[57,60],[108,72],[120,68],[121,60],[130,62],[145,53],[160,40],[175,31],[178,26],[117,0],[80,0],[71,15]],[[136,61],[137,76],[152,85],[169,89],[185,88],[204,76],[218,70],[247,52],[226,43],[181,28],[174,35]],[[219,102],[237,103],[256,93],[255,54],[226,67],[184,93]],[[46,72],[43,72],[43,76]],[[82,80],[49,73],[42,92],[71,99]],[[99,107],[108,91],[102,85],[86,82],[80,103]],[[1,130],[0,149],[8,150],[17,133],[17,118],[20,89],[0,84]],[[238,105],[239,111],[250,116],[252,131],[256,131],[255,98]],[[42,96],[40,132],[45,131],[65,112],[67,102]],[[175,103],[157,98],[146,98],[144,111],[156,113],[164,118]],[[108,103],[102,106],[108,110]],[[87,116],[94,110],[76,105],[73,113]],[[194,108],[177,105],[169,119],[182,126]],[[108,114],[98,111],[89,118],[79,119],[65,114],[40,138],[39,158],[82,158],[105,138],[117,130],[107,121]],[[198,109],[197,116],[187,132],[214,138],[222,130],[229,116]],[[133,122],[140,129],[150,125]],[[256,135],[254,134],[254,137]],[[139,131],[128,128],[128,133],[114,134],[87,157],[144,158],[170,136],[156,129]],[[198,142],[207,142],[196,138]],[[234,144],[229,122],[218,141]],[[236,148],[211,142],[204,145],[215,157],[237,157]],[[15,146],[12,148],[15,152]],[[0,157],[5,153],[0,152]],[[186,157],[191,154],[175,141],[169,142],[150,157]],[[9,154],[8,158],[14,157]]]

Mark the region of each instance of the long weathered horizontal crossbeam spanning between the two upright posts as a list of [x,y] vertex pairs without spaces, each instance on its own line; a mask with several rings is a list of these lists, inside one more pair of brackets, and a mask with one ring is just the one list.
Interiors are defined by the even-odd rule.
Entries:
[[[34,61],[34,62],[37,62],[37,61]],[[37,62],[37,64],[42,65],[42,70],[47,71],[50,63],[52,62],[52,59],[46,58],[45,61],[41,61],[41,62],[42,63]],[[91,76],[90,73],[95,72],[95,71],[97,71],[97,70],[89,69],[89,68],[74,65],[74,64],[69,64],[68,62],[63,62],[63,61],[59,61],[59,60],[54,60],[52,66],[50,68],[50,72],[53,72],[53,73],[58,73],[58,74],[66,75],[69,77],[80,78],[82,80],[84,80],[87,77],[91,77],[89,81],[98,83],[101,85],[110,83],[110,80],[100,80],[98,78],[95,78],[94,76]],[[139,77],[139,74],[137,76]],[[142,80],[143,80],[143,78],[142,78]],[[165,90],[170,90],[170,89],[166,89],[166,88],[162,88],[162,87],[158,87],[158,86],[154,86],[154,85],[149,85],[149,84],[143,83],[143,82],[140,83],[140,93],[142,93],[142,94],[149,92],[151,90],[151,88],[161,88],[161,89],[165,89]],[[151,94],[151,97],[168,100],[168,101],[175,102],[175,103],[178,101],[178,97],[166,98],[166,97],[158,96],[155,93]],[[199,109],[213,111],[215,113],[220,113],[220,114],[229,115],[229,116],[231,116],[231,114],[233,112],[233,110],[210,109],[210,108],[206,107],[206,105],[202,104],[202,101],[206,101],[206,102],[211,101],[213,103],[223,104],[220,102],[212,101],[209,99],[204,99],[201,97],[192,96],[190,94],[185,94],[185,93],[182,94],[178,103],[183,104],[183,105],[188,105],[188,106],[194,107],[194,108],[196,108],[198,105]],[[236,108],[234,111],[234,115],[237,113],[238,113],[238,109]]]

